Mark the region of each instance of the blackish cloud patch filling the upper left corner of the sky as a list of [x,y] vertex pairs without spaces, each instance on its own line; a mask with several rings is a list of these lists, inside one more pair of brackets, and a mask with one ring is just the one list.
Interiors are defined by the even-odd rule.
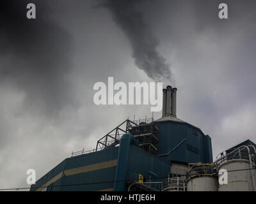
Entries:
[[[36,4],[36,19],[26,5]],[[45,1],[0,2],[0,83],[26,91],[26,104],[54,113],[68,100],[70,36],[50,17]]]

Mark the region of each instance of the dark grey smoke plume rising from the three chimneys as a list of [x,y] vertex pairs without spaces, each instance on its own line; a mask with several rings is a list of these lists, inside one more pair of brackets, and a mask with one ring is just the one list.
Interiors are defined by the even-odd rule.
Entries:
[[141,1],[138,0],[105,0],[99,7],[106,7],[111,11],[116,24],[129,38],[136,66],[155,81],[173,83],[170,64],[157,52],[159,40],[143,19],[140,4]]

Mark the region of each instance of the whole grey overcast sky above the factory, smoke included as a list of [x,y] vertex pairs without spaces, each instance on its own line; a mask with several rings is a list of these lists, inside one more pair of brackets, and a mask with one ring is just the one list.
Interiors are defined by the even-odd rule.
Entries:
[[[214,158],[256,142],[256,1],[130,2],[1,1],[1,189],[29,187],[28,169],[40,179],[128,117],[152,114],[95,106],[93,85],[108,77],[175,85],[177,116],[211,136]],[[223,2],[227,20],[218,18]]]

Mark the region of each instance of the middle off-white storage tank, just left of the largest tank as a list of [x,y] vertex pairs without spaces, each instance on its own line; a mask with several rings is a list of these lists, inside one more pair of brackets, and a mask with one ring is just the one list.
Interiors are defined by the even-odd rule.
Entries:
[[189,164],[187,191],[217,191],[218,180],[214,164]]

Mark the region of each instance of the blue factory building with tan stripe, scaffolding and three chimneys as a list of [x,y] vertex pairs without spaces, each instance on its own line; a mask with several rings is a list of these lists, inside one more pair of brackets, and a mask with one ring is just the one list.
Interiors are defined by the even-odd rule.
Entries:
[[[213,162],[211,137],[177,118],[177,89],[163,89],[158,120],[125,120],[100,138],[92,152],[73,152],[31,186],[31,191],[228,191],[219,187],[221,166],[244,159],[255,167],[250,140],[221,153]],[[250,147],[248,147],[248,145]],[[237,149],[238,148],[238,149]],[[247,157],[237,157],[236,152]],[[240,155],[238,154],[238,156]],[[250,158],[249,158],[250,156]],[[240,159],[240,160],[239,160]],[[247,159],[247,160],[246,160]],[[235,167],[237,168],[236,164]],[[228,166],[229,169],[229,166]],[[248,191],[255,190],[255,171],[246,171]],[[249,174],[248,174],[249,173]],[[233,175],[236,177],[236,175]],[[228,188],[228,187],[230,188]],[[242,187],[242,188],[243,188]],[[241,189],[241,187],[240,187]]]

